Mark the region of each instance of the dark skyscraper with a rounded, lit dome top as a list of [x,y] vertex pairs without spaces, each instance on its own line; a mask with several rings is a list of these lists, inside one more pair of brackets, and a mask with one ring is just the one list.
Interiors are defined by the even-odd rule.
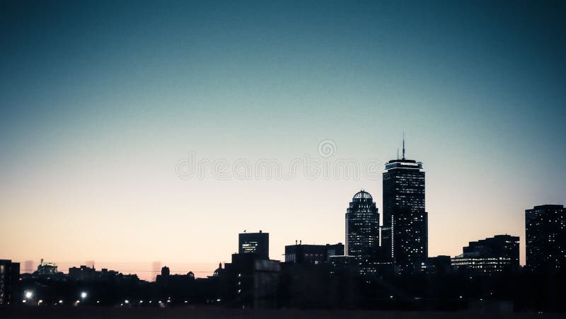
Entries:
[[379,212],[369,192],[354,195],[346,209],[346,253],[362,260],[379,248]]

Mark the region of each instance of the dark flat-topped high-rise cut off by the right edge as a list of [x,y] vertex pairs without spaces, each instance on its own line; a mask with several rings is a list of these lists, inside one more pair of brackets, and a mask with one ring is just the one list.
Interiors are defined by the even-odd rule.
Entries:
[[566,267],[566,209],[541,205],[525,211],[526,267],[541,271]]

